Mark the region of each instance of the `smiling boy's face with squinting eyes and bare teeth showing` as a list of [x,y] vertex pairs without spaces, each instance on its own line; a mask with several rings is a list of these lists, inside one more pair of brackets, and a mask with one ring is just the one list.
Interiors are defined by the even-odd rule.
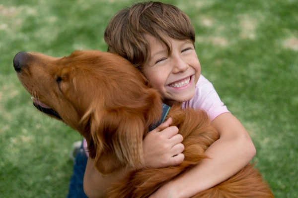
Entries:
[[150,56],[144,73],[151,86],[169,104],[192,99],[201,74],[201,65],[192,42],[169,38],[172,53],[168,56],[168,50],[158,39],[149,35],[147,39]]

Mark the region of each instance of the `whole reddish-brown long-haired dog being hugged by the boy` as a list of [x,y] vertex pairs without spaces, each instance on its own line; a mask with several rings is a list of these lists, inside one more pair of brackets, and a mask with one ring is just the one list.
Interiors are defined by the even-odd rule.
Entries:
[[[103,175],[143,163],[142,142],[149,127],[161,120],[162,99],[148,80],[125,58],[101,51],[74,51],[56,58],[19,52],[16,74],[34,105],[78,131],[89,156]],[[179,128],[184,161],[166,168],[139,168],[107,189],[108,198],[147,198],[162,185],[207,158],[204,151],[218,132],[203,110],[174,104],[167,117]],[[223,183],[193,198],[273,198],[261,174],[248,164]]]

